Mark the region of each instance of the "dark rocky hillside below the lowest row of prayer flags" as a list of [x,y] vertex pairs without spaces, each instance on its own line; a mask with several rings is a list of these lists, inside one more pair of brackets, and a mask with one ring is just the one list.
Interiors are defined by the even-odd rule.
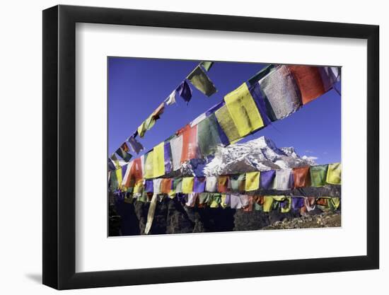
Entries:
[[[117,202],[110,207],[110,236],[144,234],[149,203]],[[330,216],[330,217],[328,217]],[[293,227],[292,227],[293,226]],[[340,212],[314,209],[306,216],[298,211],[280,213],[243,212],[236,209],[190,208],[177,198],[158,202],[149,234],[254,231],[259,229],[301,229],[340,226]]]

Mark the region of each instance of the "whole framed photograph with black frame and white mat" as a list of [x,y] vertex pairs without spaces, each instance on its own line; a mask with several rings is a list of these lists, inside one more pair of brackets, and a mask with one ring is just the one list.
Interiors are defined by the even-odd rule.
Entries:
[[378,26],[43,11],[43,284],[377,269]]

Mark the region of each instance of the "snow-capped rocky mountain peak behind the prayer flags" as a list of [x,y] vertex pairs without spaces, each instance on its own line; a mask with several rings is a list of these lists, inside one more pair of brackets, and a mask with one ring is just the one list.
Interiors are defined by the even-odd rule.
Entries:
[[260,137],[243,144],[219,146],[208,161],[187,163],[181,173],[210,176],[308,165],[316,165],[312,157],[298,156],[293,147],[277,148],[271,139]]

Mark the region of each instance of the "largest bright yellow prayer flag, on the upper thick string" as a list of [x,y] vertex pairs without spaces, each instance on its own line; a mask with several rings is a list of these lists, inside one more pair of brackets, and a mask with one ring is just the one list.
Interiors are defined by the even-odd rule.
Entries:
[[250,132],[264,126],[260,111],[246,83],[224,96],[224,101],[240,137],[245,137]]

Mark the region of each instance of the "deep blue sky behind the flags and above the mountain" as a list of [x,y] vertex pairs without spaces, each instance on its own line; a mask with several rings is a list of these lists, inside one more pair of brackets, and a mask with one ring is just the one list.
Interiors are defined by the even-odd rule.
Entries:
[[[199,61],[171,59],[108,58],[108,152],[112,154],[158,105],[181,83]],[[170,137],[227,93],[247,81],[267,64],[216,62],[209,78],[218,89],[210,98],[192,87],[187,105],[180,97],[166,106],[161,119],[139,139],[145,151]],[[340,89],[340,82],[337,83]],[[341,158],[341,98],[331,90],[289,117],[273,122],[240,140],[265,135],[278,147],[294,146],[300,155],[315,156],[317,163],[339,162]],[[134,154],[134,158],[137,155]]]

